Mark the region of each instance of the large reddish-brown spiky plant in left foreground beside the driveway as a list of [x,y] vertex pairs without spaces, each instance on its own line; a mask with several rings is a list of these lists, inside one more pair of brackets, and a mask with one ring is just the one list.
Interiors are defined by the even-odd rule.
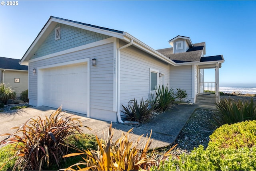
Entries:
[[[62,114],[61,106],[45,119],[41,116],[30,118],[12,134],[0,142],[0,145],[12,144],[14,157],[18,157],[15,170],[49,169],[52,163],[59,165],[62,156],[67,154],[66,138],[82,134],[82,122],[78,118]],[[88,128],[88,127],[86,127]]]

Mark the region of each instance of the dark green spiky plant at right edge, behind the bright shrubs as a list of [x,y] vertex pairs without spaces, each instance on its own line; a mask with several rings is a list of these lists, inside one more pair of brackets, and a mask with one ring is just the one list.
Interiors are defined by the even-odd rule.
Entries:
[[220,103],[216,103],[218,109],[219,120],[216,119],[216,123],[221,125],[224,124],[234,124],[237,122],[242,122],[245,120],[256,120],[256,105],[251,98],[250,102],[238,100],[234,102],[232,99],[222,99]]

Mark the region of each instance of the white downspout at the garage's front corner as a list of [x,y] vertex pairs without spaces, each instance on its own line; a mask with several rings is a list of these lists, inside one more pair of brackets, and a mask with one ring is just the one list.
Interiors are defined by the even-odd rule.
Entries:
[[117,119],[118,122],[121,124],[123,124],[124,122],[122,121],[120,114],[120,50],[132,45],[132,43],[133,39],[130,40],[130,43],[117,49]]

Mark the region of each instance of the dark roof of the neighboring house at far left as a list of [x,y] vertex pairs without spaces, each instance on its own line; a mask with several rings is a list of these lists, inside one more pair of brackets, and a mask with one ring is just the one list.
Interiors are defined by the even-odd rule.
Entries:
[[14,69],[28,71],[28,66],[20,65],[20,59],[0,57],[0,69]]

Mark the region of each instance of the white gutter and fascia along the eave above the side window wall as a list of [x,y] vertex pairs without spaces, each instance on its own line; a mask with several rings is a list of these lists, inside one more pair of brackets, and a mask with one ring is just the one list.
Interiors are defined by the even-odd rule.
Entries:
[[150,46],[146,45],[145,43],[143,43],[142,41],[136,39],[135,37],[133,37],[132,35],[130,35],[129,33],[124,33],[125,37],[130,40],[133,39],[134,43],[133,45],[138,47],[139,49],[141,49],[142,51],[145,51],[147,53],[149,53],[150,55],[153,55],[154,57],[157,57],[158,59],[161,59],[162,61],[171,64],[171,65],[175,65],[176,63],[172,60],[170,60],[169,58],[167,58],[166,56],[162,55],[161,53],[159,53],[158,51],[154,50],[153,48],[151,48]]

